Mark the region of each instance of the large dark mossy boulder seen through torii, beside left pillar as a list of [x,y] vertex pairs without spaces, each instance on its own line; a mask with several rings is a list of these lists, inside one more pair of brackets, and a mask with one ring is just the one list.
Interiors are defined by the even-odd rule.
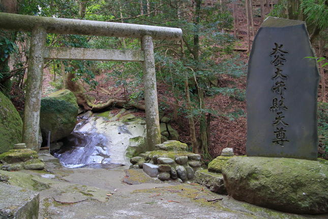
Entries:
[[49,131],[54,142],[68,136],[76,124],[78,107],[74,94],[69,90],[58,92],[41,99],[40,128],[45,142]]

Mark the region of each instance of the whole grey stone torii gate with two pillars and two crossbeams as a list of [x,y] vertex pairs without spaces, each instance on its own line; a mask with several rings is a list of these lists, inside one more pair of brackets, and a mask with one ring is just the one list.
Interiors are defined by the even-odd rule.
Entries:
[[[182,30],[161,26],[113,23],[0,13],[0,29],[32,32],[26,81],[22,142],[38,151],[41,89],[45,60],[142,62],[147,143],[161,143],[154,40],[180,40]],[[45,47],[47,33],[140,38],[141,50]]]

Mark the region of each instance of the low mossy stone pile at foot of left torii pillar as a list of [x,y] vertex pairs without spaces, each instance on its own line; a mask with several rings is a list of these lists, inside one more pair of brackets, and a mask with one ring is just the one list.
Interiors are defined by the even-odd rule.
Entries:
[[38,153],[26,148],[25,143],[14,145],[14,149],[0,154],[0,169],[5,171],[43,170],[44,162]]

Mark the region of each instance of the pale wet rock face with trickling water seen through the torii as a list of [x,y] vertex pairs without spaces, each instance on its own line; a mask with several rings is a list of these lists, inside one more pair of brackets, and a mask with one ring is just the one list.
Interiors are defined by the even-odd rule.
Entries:
[[127,150],[129,147],[138,147],[141,142],[146,142],[145,121],[132,117],[131,120],[121,121],[118,120],[119,115],[112,116],[111,118],[97,115],[88,115],[87,118],[82,116],[85,120],[76,125],[73,133],[78,134],[82,139],[85,137],[86,141],[73,139],[75,147],[58,153],[59,160],[69,165],[117,163],[130,166],[130,158],[126,156]]

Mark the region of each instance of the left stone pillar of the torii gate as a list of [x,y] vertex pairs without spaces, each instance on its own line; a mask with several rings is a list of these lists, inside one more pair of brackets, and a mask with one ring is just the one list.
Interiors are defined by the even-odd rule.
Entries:
[[43,49],[46,43],[46,31],[41,27],[32,30],[29,49],[26,94],[23,118],[22,142],[26,147],[39,151],[39,129],[41,90],[43,77]]

